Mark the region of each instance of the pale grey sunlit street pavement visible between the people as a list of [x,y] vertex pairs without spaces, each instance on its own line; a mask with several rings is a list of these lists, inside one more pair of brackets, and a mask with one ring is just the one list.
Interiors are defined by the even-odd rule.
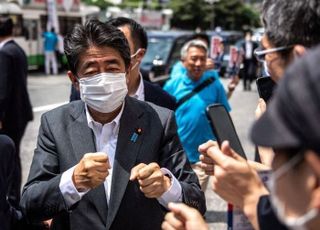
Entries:
[[[228,80],[222,79],[226,86]],[[242,82],[239,83],[229,102],[232,107],[231,117],[234,121],[239,138],[249,159],[254,157],[254,147],[248,140],[248,133],[254,121],[254,111],[258,101],[255,83],[252,83],[252,91],[243,91]],[[30,73],[28,78],[28,90],[34,110],[34,120],[28,124],[21,143],[21,163],[23,170],[23,184],[27,180],[33,151],[36,147],[38,129],[41,115],[67,103],[70,95],[70,81],[67,75],[45,76],[39,73]],[[212,190],[211,185],[206,191],[207,213],[206,221],[210,229],[225,230],[226,227],[226,203]]]

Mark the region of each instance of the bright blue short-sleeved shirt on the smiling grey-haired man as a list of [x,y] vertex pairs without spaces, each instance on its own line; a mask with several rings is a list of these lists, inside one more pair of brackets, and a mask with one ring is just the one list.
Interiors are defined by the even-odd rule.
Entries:
[[216,140],[206,116],[206,107],[220,103],[227,111],[231,110],[226,92],[217,72],[212,70],[206,71],[198,81],[191,80],[185,73],[167,81],[164,86],[164,90],[179,101],[208,78],[215,81],[180,105],[175,112],[179,138],[192,164],[199,161],[199,145]]

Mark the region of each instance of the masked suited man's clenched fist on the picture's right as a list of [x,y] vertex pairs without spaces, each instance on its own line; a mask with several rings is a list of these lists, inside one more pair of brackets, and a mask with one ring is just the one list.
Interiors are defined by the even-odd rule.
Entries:
[[140,190],[148,198],[159,198],[168,191],[171,180],[164,175],[157,163],[138,164],[131,170],[130,180],[138,180]]

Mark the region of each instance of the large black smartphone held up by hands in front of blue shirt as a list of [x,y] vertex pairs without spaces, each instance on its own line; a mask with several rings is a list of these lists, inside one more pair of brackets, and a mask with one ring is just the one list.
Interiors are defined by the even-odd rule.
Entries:
[[206,112],[219,145],[221,146],[223,141],[229,141],[231,148],[247,159],[230,114],[225,107],[222,104],[209,105]]

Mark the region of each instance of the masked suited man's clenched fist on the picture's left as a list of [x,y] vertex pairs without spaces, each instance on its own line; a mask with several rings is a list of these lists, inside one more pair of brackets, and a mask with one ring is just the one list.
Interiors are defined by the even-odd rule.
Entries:
[[76,165],[72,181],[79,192],[93,189],[105,181],[110,168],[106,153],[86,153]]

